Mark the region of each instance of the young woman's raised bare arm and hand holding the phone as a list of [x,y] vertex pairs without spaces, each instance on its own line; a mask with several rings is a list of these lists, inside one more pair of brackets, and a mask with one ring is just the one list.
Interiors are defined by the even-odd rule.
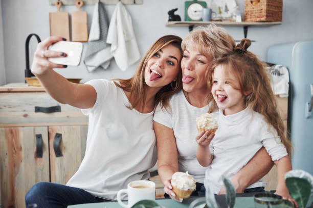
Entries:
[[69,82],[53,70],[53,68],[64,68],[64,66],[48,60],[49,57],[66,56],[64,53],[48,50],[50,45],[60,40],[62,40],[61,37],[52,36],[38,44],[32,64],[32,73],[58,102],[82,109],[92,108],[97,98],[96,90],[91,85]]

